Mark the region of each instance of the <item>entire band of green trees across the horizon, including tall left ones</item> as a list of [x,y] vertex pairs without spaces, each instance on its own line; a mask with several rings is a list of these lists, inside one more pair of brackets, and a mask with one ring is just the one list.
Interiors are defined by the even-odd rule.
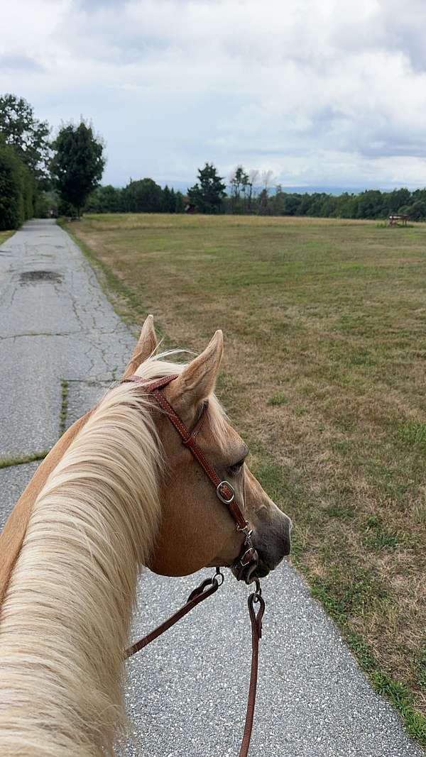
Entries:
[[404,213],[426,220],[426,188],[381,192],[285,192],[271,170],[236,166],[227,179],[212,163],[198,170],[186,195],[153,179],[102,186],[105,145],[92,126],[66,123],[51,139],[46,121],[16,95],[0,95],[0,229],[27,218],[90,213],[232,213],[320,218],[385,219]]

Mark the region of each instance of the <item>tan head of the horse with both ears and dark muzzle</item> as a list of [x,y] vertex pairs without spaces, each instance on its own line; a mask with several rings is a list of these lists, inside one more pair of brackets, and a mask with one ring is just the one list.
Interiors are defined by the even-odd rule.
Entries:
[[[124,378],[130,374],[143,378],[146,360],[149,362],[156,347],[149,316]],[[218,331],[199,357],[186,366],[174,366],[181,371],[180,375],[162,392],[186,428],[194,428],[205,414],[197,444],[219,478],[229,481],[235,491],[235,500],[252,529],[252,541],[258,551],[254,575],[262,577],[290,553],[291,521],[250,472],[246,463],[248,447],[215,397],[223,349],[222,332]],[[155,413],[155,425],[165,466],[159,484],[161,524],[149,567],[161,575],[187,575],[204,566],[233,565],[244,534],[236,529],[227,506],[218,499],[208,476],[181,443],[167,415]]]

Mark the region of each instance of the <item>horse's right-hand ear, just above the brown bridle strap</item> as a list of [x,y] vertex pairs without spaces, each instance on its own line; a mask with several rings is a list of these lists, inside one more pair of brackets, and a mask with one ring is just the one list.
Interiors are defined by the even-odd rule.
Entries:
[[190,394],[193,404],[205,400],[214,391],[223,353],[224,337],[221,331],[217,331],[204,352],[176,379],[177,388],[186,396]]

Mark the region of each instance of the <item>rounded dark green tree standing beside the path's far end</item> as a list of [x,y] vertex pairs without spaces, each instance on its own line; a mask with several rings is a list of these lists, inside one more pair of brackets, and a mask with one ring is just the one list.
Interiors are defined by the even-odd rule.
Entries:
[[78,126],[62,126],[53,143],[55,156],[51,170],[62,200],[80,210],[90,192],[102,179],[105,167],[104,145],[82,120]]

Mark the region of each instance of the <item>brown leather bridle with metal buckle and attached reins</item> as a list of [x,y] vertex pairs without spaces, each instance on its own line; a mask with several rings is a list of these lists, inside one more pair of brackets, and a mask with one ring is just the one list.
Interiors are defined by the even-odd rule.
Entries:
[[[147,383],[146,379],[141,378],[141,376],[131,375],[128,378],[124,378],[123,383],[137,383],[141,386],[141,388],[143,388],[144,394],[149,394],[152,397],[155,397],[155,400],[157,401],[159,407],[161,407],[161,410],[164,411],[164,414],[174,425],[174,428],[176,428],[177,433],[182,439],[182,444],[187,447],[188,450],[190,450],[197,463],[199,463],[199,465],[202,467],[205,475],[207,475],[208,479],[211,481],[211,484],[213,484],[213,486],[215,487],[218,499],[221,500],[221,502],[224,503],[225,506],[227,506],[230,515],[233,517],[233,520],[236,523],[236,530],[241,531],[245,537],[240,555],[237,557],[236,562],[234,562],[234,564],[232,565],[232,571],[236,576],[237,581],[246,581],[246,584],[250,584],[253,581],[255,582],[255,590],[249,595],[248,600],[249,615],[252,625],[252,668],[250,675],[249,697],[246,710],[246,723],[244,726],[243,740],[239,752],[239,757],[247,757],[247,754],[249,752],[250,738],[252,735],[253,716],[255,712],[255,695],[258,672],[258,642],[262,637],[262,617],[265,612],[265,601],[262,598],[260,581],[254,575],[255,570],[258,566],[258,553],[252,543],[252,530],[249,527],[249,522],[246,521],[245,517],[243,516],[243,512],[240,509],[240,506],[236,502],[235,490],[232,484],[230,484],[229,481],[221,480],[221,478],[215,472],[215,469],[211,466],[210,463],[208,463],[208,460],[205,458],[201,447],[199,447],[196,442],[196,435],[199,433],[199,430],[202,427],[202,422],[205,419],[207,404],[205,404],[205,406],[203,407],[202,414],[199,420],[196,422],[196,425],[194,426],[192,431],[190,431],[188,428],[186,428],[186,425],[177,415],[174,408],[171,407],[171,404],[168,402],[168,400],[166,400],[164,394],[162,394],[160,391],[161,388],[164,388],[165,386],[170,384],[174,380],[174,378],[177,378],[177,376],[178,374],[164,376],[163,378],[158,378],[153,382]],[[130,648],[126,651],[125,656],[130,657],[134,655],[136,652],[139,652],[139,650],[143,649],[144,646],[147,646],[147,644],[158,638],[158,636],[164,633],[164,631],[167,631],[168,628],[171,628],[172,625],[177,623],[180,618],[183,618],[183,616],[186,615],[187,612],[190,612],[193,607],[198,605],[203,600],[207,599],[207,597],[211,597],[211,594],[215,593],[215,591],[218,590],[221,584],[223,584],[223,581],[224,575],[221,573],[221,570],[219,568],[216,568],[215,575],[212,578],[207,578],[205,581],[202,581],[202,584],[200,584],[198,587],[196,587],[196,589],[193,590],[193,592],[190,593],[190,596],[186,600],[186,603],[183,605],[183,607],[180,608],[180,610],[175,612],[174,615],[171,615],[171,618],[168,618],[168,620],[164,621],[164,623],[161,623],[158,628],[155,628],[155,630],[151,631],[151,633],[146,637],[143,637],[143,639],[140,639],[139,641],[134,643],[133,646],[130,646]],[[257,612],[255,610],[255,605],[258,605]]]

